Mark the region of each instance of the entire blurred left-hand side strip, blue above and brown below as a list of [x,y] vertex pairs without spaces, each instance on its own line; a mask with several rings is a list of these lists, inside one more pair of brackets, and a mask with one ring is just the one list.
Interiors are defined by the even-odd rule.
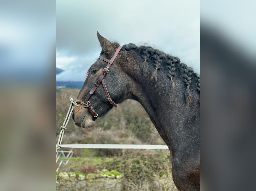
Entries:
[[0,1],[0,190],[54,190],[55,1]]

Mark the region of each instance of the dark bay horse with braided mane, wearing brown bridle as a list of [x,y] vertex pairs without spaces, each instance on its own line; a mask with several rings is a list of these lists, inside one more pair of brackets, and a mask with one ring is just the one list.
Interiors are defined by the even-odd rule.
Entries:
[[200,75],[150,46],[97,36],[102,51],[75,100],[75,124],[90,128],[124,100],[138,101],[170,150],[177,189],[200,190]]

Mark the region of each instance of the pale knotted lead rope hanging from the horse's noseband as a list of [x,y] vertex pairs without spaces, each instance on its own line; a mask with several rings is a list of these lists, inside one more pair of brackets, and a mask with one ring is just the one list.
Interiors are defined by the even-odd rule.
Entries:
[[[58,150],[61,149],[60,144],[61,144],[62,139],[63,139],[64,131],[67,129],[66,126],[67,126],[67,124],[68,124],[68,122],[69,122],[69,118],[70,118],[70,116],[71,116],[71,114],[72,114],[74,105],[75,105],[75,106],[78,106],[78,104],[76,103],[76,101],[75,101],[74,99],[72,99],[72,98],[70,98],[70,101],[69,101],[69,102],[70,102],[70,106],[69,106],[68,113],[67,113],[67,115],[66,115],[66,118],[65,118],[65,120],[64,120],[63,125],[60,127],[61,130],[60,130],[60,133],[59,133],[59,140],[58,140],[58,143],[57,143],[57,145],[56,145],[56,154],[57,154]],[[57,156],[57,155],[56,155],[56,156]]]

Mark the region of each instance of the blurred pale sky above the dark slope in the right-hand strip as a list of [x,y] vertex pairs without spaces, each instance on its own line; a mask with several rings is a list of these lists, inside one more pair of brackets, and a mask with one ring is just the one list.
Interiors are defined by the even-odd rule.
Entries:
[[210,26],[225,40],[234,42],[246,56],[255,59],[255,7],[255,0],[201,0],[201,27]]

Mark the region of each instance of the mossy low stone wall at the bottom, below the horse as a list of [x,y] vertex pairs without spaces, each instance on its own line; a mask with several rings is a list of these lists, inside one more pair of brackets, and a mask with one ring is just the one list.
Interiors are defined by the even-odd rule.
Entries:
[[81,172],[56,174],[56,191],[122,191],[127,186],[129,190],[138,190],[139,187],[143,191],[178,191],[172,177],[165,175],[163,177],[152,176],[150,181],[141,182],[137,187],[125,181],[124,175],[115,170],[103,170],[90,174]]

